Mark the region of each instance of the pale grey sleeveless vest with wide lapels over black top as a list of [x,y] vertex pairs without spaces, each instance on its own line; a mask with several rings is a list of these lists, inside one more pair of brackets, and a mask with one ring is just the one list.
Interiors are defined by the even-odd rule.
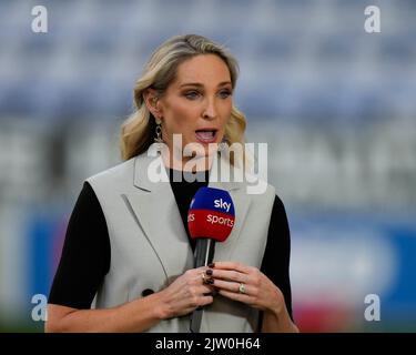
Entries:
[[[219,161],[230,166],[225,159],[215,156],[214,162]],[[160,170],[164,182],[152,182],[148,174],[152,164],[163,166],[162,158],[143,153],[87,180],[103,210],[111,244],[110,271],[95,295],[97,308],[142,297],[146,288],[159,292],[193,267],[192,248],[166,171]],[[246,182],[211,181],[212,171],[209,186],[229,191],[235,209],[234,229],[225,242],[216,243],[214,261],[260,267],[274,187],[267,184],[264,193],[247,194]],[[255,332],[257,318],[256,310],[216,295],[204,308],[201,332]],[[162,321],[148,332],[189,328],[187,315]]]

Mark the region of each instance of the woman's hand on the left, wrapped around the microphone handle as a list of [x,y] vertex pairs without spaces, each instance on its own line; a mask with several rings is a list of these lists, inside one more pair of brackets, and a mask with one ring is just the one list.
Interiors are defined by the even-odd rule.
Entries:
[[159,293],[162,318],[185,315],[213,302],[214,290],[209,284],[212,281],[206,277],[206,266],[187,270]]

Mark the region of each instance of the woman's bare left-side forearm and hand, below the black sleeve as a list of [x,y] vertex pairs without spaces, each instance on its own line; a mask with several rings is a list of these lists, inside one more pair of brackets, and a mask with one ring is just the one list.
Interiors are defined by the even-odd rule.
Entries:
[[191,268],[162,291],[113,308],[78,310],[48,305],[45,332],[143,332],[163,320],[179,317],[213,302],[202,283],[206,266]]

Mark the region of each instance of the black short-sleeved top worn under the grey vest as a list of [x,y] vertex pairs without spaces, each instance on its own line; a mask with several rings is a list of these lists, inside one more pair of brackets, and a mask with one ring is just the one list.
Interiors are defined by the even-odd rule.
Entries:
[[[187,210],[191,200],[201,186],[207,185],[201,179],[187,182],[170,180],[190,244],[194,250],[195,242],[187,230]],[[267,244],[261,271],[282,291],[287,312],[292,317],[292,295],[290,283],[291,239],[285,207],[275,196],[272,217],[268,226]],[[110,270],[111,248],[106,222],[97,195],[89,183],[84,183],[72,211],[61,260],[53,278],[49,303],[68,307],[87,310]]]

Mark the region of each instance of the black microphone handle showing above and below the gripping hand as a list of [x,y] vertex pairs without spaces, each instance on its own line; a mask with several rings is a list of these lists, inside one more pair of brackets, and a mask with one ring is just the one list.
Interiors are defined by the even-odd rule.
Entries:
[[[215,240],[201,237],[196,240],[194,267],[207,266],[214,260]],[[191,316],[191,333],[200,333],[203,307],[197,307]]]

